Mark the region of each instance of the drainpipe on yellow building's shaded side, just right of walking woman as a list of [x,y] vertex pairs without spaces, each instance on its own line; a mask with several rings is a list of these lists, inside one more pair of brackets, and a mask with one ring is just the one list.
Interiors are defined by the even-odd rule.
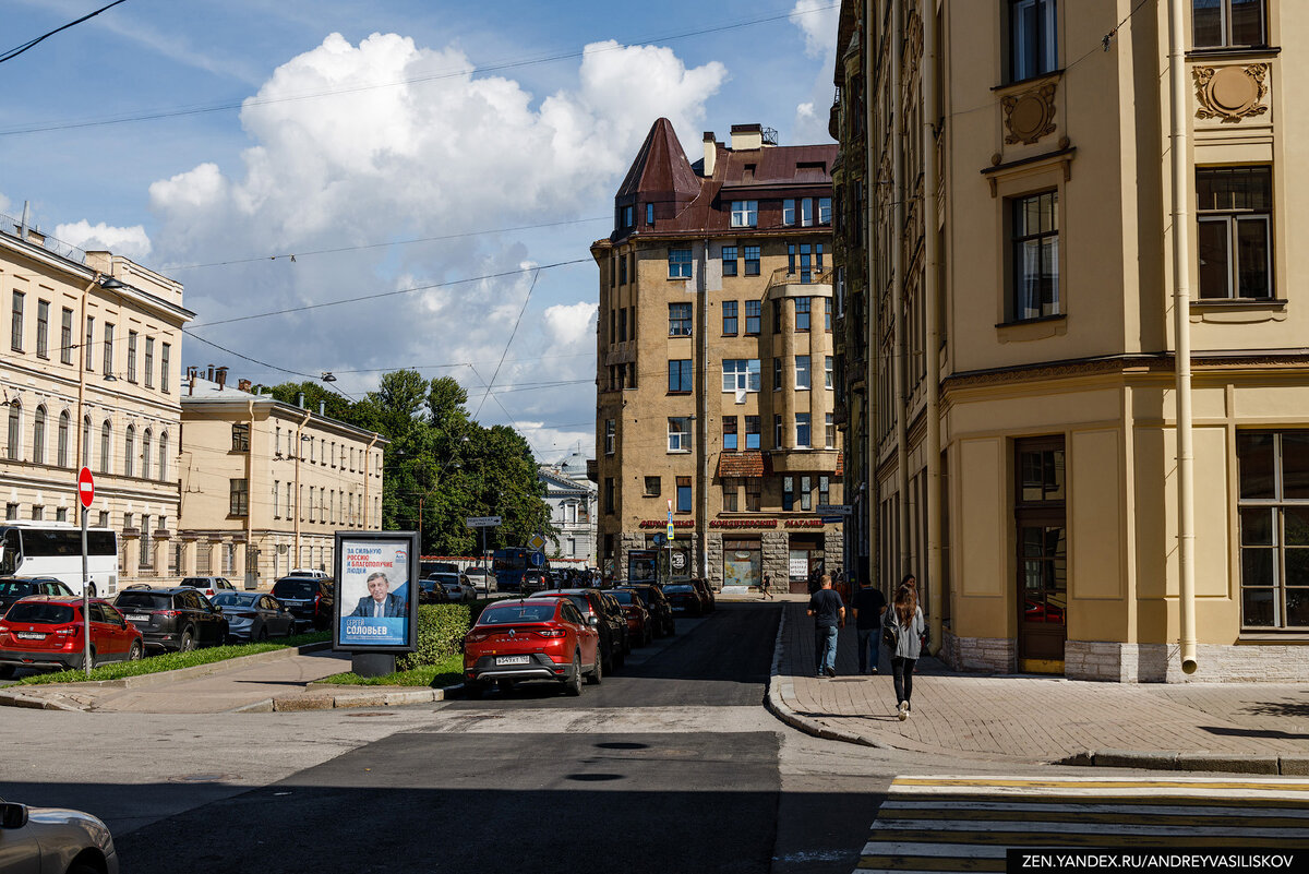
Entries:
[[936,0],[923,4],[923,309],[927,322],[927,606],[931,652],[941,649],[941,327],[936,245]]

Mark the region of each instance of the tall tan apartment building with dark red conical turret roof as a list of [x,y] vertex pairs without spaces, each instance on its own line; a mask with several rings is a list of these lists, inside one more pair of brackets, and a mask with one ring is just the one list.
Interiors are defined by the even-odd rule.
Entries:
[[[804,591],[839,570],[833,423],[835,145],[759,124],[691,164],[658,119],[614,198],[600,268],[596,481],[610,578]],[[668,535],[672,534],[672,543]]]

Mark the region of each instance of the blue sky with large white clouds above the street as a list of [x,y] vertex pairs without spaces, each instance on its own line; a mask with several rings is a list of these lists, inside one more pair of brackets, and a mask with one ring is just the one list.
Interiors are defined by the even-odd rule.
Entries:
[[[0,52],[109,1],[0,0]],[[0,213],[183,283],[185,365],[450,376],[593,457],[590,243],[636,149],[830,143],[839,7],[126,0],[0,63]]]

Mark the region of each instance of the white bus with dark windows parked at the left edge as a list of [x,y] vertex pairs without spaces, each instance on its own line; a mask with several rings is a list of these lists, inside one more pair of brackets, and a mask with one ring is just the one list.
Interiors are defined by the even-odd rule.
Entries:
[[[118,535],[86,529],[92,595],[118,591]],[[0,577],[55,577],[81,594],[81,529],[68,522],[0,522]]]

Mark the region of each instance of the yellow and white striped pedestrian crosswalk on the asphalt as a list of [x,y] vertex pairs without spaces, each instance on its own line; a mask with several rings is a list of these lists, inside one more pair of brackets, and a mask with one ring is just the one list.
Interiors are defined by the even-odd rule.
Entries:
[[1004,871],[1018,848],[1309,853],[1309,780],[902,776],[857,870]]

